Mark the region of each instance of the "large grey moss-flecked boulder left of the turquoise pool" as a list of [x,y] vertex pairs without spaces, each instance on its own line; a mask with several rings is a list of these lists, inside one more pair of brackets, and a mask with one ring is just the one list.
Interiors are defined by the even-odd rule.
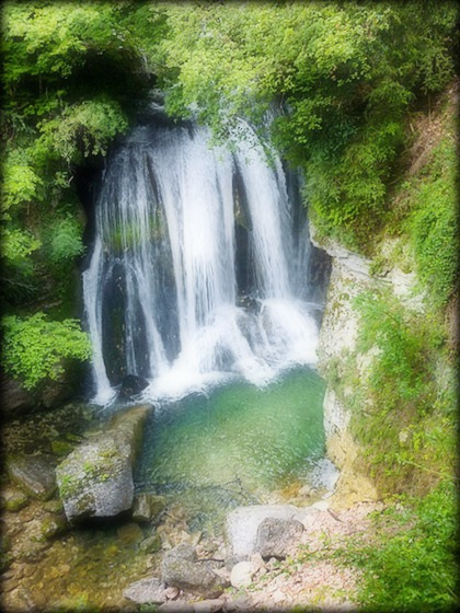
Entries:
[[151,405],[116,414],[103,432],[89,435],[56,469],[69,521],[114,517],[131,508],[133,470]]

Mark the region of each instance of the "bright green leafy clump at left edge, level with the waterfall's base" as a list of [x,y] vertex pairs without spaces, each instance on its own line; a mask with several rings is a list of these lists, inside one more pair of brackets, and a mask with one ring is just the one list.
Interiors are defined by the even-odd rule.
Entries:
[[77,320],[50,321],[44,313],[3,319],[3,366],[32,390],[43,379],[56,380],[64,372],[62,360],[87,360],[91,345]]

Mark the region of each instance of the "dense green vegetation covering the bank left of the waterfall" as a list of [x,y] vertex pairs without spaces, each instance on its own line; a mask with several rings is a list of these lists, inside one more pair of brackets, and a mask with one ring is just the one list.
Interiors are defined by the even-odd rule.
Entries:
[[[14,313],[4,320],[3,366],[28,388],[56,378],[62,358],[88,358],[82,333],[62,321],[80,314],[84,216],[74,178],[127,129],[149,86],[128,4],[3,7],[2,308]],[[153,38],[154,14],[146,20]],[[45,325],[43,311],[55,321]],[[24,343],[37,333],[45,343]]]

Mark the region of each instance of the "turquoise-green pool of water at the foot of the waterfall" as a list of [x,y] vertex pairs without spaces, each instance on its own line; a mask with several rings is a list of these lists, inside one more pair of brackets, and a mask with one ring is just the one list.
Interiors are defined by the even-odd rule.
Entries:
[[323,380],[302,368],[263,390],[235,382],[157,408],[137,489],[165,495],[203,529],[230,508],[308,483],[324,456],[323,395]]

